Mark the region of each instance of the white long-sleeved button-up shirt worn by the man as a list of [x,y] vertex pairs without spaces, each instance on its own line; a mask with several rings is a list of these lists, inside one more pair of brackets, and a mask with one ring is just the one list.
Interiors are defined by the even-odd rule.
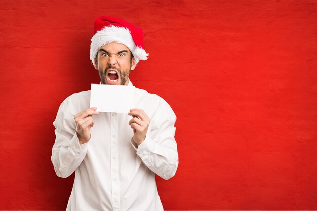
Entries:
[[171,107],[159,96],[136,88],[135,108],[151,119],[137,148],[127,113],[94,115],[91,139],[80,145],[73,116],[89,107],[90,91],[73,94],[60,105],[53,122],[55,172],[66,178],[75,171],[66,210],[163,210],[155,173],[169,179],[178,166],[176,116]]

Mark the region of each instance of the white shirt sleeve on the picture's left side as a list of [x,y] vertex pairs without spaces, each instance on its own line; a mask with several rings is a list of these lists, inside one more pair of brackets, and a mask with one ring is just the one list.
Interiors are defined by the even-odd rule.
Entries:
[[56,175],[66,178],[84,160],[88,142],[80,144],[76,133],[76,123],[68,112],[65,101],[60,105],[55,121],[55,143],[52,148],[52,163]]

